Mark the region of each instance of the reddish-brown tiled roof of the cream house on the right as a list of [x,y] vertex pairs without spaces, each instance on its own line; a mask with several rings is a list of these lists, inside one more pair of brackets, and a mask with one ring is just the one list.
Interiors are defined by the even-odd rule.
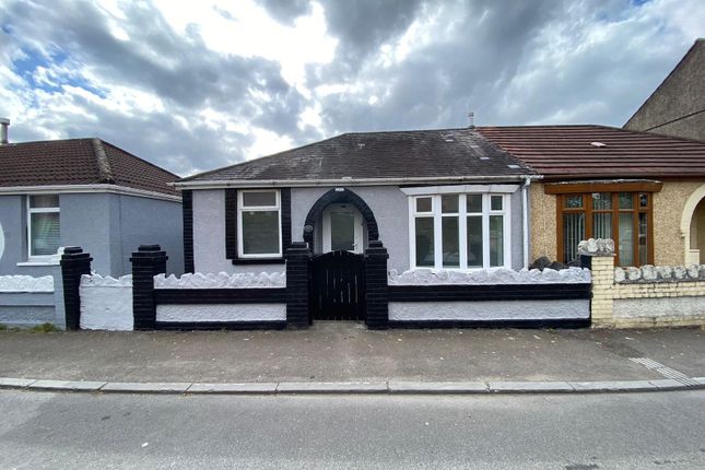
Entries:
[[705,176],[705,142],[604,126],[477,129],[547,179]]

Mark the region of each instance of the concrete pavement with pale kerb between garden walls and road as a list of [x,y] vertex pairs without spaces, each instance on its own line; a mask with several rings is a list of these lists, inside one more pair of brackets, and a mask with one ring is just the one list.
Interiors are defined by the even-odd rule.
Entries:
[[[489,393],[693,389],[705,331],[0,332],[0,387],[171,393]],[[146,384],[153,384],[148,386]]]

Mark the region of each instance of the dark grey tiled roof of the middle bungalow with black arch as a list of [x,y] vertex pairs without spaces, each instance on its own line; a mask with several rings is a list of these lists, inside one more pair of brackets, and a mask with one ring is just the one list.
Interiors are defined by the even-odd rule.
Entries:
[[[512,166],[510,166],[512,165]],[[531,174],[472,129],[344,133],[183,181],[509,176]]]

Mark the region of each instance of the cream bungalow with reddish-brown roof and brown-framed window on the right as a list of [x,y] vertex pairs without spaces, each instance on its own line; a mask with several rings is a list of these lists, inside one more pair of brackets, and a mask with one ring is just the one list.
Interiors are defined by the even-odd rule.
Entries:
[[530,257],[571,262],[612,238],[615,266],[705,263],[705,142],[604,126],[481,127],[542,176]]

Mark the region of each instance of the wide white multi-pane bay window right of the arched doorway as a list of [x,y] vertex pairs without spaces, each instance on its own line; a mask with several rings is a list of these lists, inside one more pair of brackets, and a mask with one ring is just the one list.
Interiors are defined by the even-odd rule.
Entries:
[[509,195],[410,198],[411,268],[508,268]]

